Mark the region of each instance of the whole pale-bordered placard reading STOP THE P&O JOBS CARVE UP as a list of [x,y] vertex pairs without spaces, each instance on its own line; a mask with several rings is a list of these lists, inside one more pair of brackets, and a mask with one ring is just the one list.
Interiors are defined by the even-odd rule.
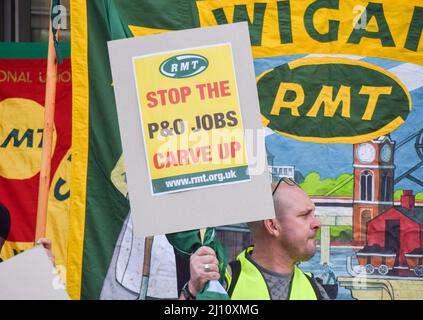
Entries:
[[246,23],[111,41],[109,53],[139,235],[274,217]]

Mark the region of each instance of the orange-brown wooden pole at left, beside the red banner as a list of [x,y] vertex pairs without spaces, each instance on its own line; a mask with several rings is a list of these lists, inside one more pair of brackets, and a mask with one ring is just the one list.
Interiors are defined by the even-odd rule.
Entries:
[[44,106],[45,110],[43,148],[41,154],[40,182],[38,187],[37,224],[35,229],[35,241],[40,238],[44,238],[46,235],[48,192],[50,187],[50,167],[54,130],[54,110],[56,105],[56,82],[57,61],[53,40],[52,21],[50,19]]

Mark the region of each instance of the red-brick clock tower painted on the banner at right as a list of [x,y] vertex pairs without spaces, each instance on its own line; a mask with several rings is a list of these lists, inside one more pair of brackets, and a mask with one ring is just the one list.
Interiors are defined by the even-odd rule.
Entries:
[[366,244],[367,222],[394,205],[394,146],[389,135],[354,145],[355,245]]

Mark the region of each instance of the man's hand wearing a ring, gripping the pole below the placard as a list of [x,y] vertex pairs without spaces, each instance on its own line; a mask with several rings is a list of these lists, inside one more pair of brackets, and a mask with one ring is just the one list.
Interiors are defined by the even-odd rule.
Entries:
[[189,291],[196,296],[209,280],[218,280],[219,261],[210,247],[200,247],[190,258],[191,277],[188,282]]

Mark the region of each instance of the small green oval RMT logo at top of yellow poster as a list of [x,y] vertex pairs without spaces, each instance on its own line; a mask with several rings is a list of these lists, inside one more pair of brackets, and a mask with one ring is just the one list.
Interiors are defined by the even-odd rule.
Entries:
[[169,78],[189,78],[200,74],[209,66],[209,61],[198,54],[181,54],[165,60],[160,73]]

